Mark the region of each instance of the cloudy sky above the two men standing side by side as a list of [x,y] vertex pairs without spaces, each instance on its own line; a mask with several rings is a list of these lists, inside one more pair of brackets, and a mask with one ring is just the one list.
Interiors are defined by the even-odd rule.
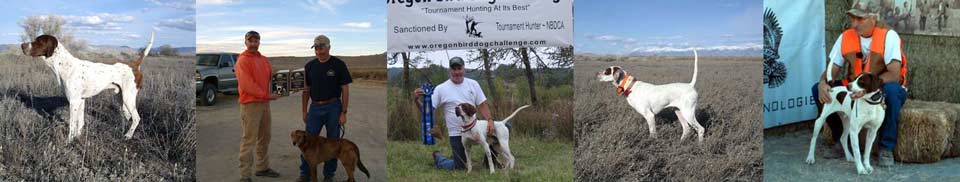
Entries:
[[373,0],[197,2],[199,52],[242,52],[243,35],[260,32],[266,56],[312,56],[313,38],[330,37],[333,55],[386,51],[387,8]]

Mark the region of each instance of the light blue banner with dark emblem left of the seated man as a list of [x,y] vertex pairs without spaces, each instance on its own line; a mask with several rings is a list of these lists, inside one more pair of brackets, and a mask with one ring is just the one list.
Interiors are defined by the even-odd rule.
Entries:
[[815,119],[826,66],[824,1],[764,0],[763,128]]

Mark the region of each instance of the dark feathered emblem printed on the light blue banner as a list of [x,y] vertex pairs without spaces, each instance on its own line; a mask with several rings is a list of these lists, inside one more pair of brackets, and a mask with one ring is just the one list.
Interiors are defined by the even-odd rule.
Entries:
[[763,12],[763,84],[777,88],[787,80],[787,66],[780,62],[780,37],[783,30],[770,8]]

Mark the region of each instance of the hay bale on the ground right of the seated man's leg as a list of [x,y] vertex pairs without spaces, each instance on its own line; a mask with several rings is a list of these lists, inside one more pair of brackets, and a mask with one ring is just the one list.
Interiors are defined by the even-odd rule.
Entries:
[[[954,136],[955,120],[943,103],[909,100],[901,111],[894,156],[901,162],[940,161]],[[955,117],[955,116],[954,116]]]

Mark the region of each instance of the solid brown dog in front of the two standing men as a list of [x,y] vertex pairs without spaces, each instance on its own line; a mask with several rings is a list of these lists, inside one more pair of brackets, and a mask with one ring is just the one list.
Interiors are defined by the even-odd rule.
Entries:
[[293,145],[300,148],[303,158],[307,160],[310,166],[310,179],[317,181],[317,164],[330,159],[339,159],[343,168],[347,169],[347,181],[356,181],[353,178],[353,170],[360,167],[360,171],[367,174],[370,178],[370,172],[367,167],[360,162],[360,149],[356,144],[347,139],[327,139],[326,137],[314,135],[303,130],[297,130],[290,133],[290,139]]

